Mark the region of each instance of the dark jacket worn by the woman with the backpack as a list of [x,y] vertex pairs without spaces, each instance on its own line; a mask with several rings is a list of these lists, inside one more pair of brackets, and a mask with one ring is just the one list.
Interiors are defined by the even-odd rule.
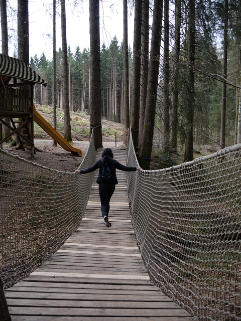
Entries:
[[90,173],[99,169],[99,175],[97,177],[96,183],[98,184],[102,183],[101,174],[102,174],[103,167],[106,164],[108,165],[112,174],[112,179],[108,181],[108,183],[106,184],[114,184],[114,185],[118,184],[116,174],[115,174],[115,169],[126,171],[126,172],[135,172],[137,170],[136,167],[128,167],[128,166],[122,165],[121,163],[117,162],[115,159],[109,156],[104,156],[103,158],[98,159],[98,161],[94,163],[94,165],[90,166],[88,169],[80,170],[80,174]]

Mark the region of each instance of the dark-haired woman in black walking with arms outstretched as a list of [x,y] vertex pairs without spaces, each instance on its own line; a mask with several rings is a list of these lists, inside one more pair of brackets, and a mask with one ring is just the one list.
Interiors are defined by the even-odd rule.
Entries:
[[88,169],[76,170],[75,172],[86,174],[96,171],[97,169],[99,169],[99,174],[96,183],[99,184],[100,210],[103,217],[103,224],[105,224],[106,227],[110,227],[111,223],[108,220],[109,201],[114,193],[115,185],[118,184],[115,169],[126,172],[135,172],[141,170],[141,168],[122,165],[117,162],[116,159],[113,159],[112,150],[110,148],[105,148],[102,152],[102,158],[98,159],[94,165],[90,166]]

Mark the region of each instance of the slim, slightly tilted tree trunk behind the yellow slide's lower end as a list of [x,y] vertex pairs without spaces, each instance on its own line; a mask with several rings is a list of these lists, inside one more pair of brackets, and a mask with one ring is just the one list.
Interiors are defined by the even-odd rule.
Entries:
[[72,141],[69,93],[68,93],[68,59],[67,59],[67,39],[66,39],[66,13],[65,0],[60,1],[61,5],[61,35],[62,35],[62,71],[63,71],[63,109],[64,109],[64,138]]

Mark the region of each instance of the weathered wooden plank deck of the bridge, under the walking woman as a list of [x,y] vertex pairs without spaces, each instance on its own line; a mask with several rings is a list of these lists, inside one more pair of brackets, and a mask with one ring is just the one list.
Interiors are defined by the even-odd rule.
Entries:
[[[126,151],[114,149],[114,157],[126,164]],[[196,320],[150,281],[131,224],[126,173],[117,172],[112,226],[102,223],[96,171],[77,231],[28,278],[6,290],[12,321]]]

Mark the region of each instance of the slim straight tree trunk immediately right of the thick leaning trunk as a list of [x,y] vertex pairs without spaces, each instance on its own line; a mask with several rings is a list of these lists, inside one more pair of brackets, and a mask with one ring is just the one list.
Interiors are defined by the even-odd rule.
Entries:
[[163,53],[163,136],[164,153],[169,152],[170,124],[169,124],[169,0],[164,0],[164,53]]

